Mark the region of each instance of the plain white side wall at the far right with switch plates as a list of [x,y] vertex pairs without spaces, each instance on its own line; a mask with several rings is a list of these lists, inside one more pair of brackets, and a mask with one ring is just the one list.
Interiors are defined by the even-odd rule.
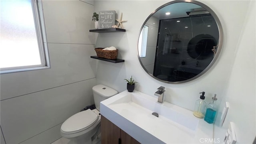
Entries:
[[236,144],[252,144],[256,136],[256,1],[251,1],[240,42],[236,50],[234,65],[230,73],[228,89],[222,101],[229,102],[230,108],[222,126],[216,123],[214,137],[224,139],[229,122],[235,123]]

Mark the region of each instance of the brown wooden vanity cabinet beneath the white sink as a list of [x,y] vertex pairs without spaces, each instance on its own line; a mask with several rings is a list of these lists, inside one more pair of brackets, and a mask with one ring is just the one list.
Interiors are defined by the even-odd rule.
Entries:
[[101,144],[140,144],[110,120],[101,115]]

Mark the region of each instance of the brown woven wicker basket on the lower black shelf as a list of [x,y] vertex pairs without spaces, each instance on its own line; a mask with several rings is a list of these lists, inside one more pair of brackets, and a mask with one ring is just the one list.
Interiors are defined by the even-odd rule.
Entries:
[[95,48],[98,57],[103,57],[105,59],[116,59],[118,54],[118,49],[116,50],[102,50],[104,48]]

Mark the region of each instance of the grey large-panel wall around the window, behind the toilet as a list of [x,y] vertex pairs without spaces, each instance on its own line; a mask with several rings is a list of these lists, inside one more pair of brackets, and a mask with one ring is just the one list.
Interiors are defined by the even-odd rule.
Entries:
[[[87,2],[87,1],[86,1]],[[46,144],[92,105],[96,85],[93,1],[43,1],[51,69],[1,74],[1,144]]]

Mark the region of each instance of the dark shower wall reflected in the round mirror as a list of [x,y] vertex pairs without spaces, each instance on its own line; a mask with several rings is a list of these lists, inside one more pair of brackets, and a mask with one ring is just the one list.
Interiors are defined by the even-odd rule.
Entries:
[[212,61],[218,26],[209,14],[160,20],[153,75],[164,81],[184,81]]

